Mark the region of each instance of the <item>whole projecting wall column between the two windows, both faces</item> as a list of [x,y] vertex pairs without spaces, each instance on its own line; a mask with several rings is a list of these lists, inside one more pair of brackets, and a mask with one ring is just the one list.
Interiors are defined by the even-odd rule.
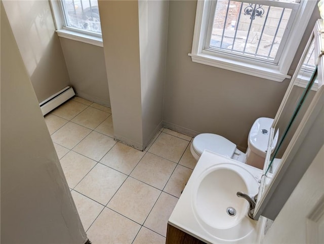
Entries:
[[168,2],[100,1],[114,136],[143,150],[162,126]]

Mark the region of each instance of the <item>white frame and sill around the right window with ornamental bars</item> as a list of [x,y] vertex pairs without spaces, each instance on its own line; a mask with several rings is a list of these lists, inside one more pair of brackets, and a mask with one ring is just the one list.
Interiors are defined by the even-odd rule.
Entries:
[[[269,1],[272,0],[258,2],[263,2],[263,4],[266,5],[265,2]],[[206,38],[208,38],[208,20],[212,5],[210,0],[198,0],[192,50],[188,55],[191,56],[191,60],[196,63],[282,82],[285,78],[291,78],[291,76],[288,75],[289,68],[316,4],[317,1],[301,0],[299,4],[300,7],[297,9],[295,19],[286,40],[285,48],[282,49],[278,63],[271,64],[256,59],[253,60],[251,57],[239,58],[234,55],[207,50],[205,48],[205,43]]]

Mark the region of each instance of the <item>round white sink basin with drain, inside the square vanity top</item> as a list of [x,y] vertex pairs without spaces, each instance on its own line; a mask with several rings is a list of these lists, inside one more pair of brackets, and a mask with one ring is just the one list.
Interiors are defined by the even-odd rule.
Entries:
[[[236,196],[237,191],[251,196],[258,193],[258,182],[249,171],[231,162],[217,164],[203,171],[194,185],[194,215],[208,233],[233,240],[254,229],[255,221],[247,215],[248,201]],[[235,215],[228,209],[235,210]]]

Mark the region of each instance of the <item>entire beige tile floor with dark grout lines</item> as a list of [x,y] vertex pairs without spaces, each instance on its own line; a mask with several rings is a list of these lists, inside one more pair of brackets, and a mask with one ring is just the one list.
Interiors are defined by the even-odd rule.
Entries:
[[113,140],[111,110],[74,97],[45,116],[93,244],[165,243],[168,219],[196,164],[191,137],[161,129],[143,151]]

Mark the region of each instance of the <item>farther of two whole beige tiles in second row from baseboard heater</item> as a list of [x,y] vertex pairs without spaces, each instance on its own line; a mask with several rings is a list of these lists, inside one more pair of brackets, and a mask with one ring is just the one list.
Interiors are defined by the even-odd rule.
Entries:
[[93,130],[97,126],[99,126],[109,115],[109,113],[101,111],[97,108],[87,107],[85,110],[76,115],[71,121],[80,126],[84,126]]

